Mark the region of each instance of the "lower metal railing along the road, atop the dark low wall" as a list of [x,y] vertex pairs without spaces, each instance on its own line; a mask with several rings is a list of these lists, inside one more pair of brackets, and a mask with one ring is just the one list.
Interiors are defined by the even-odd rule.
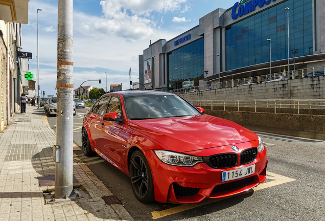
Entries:
[[279,108],[297,109],[299,114],[300,109],[325,109],[325,99],[310,99],[310,100],[193,100],[189,101],[194,106],[211,106],[213,111],[214,107],[221,106],[223,111],[226,107],[238,107],[238,111],[242,107],[252,107],[255,112],[257,108],[274,108],[274,113]]

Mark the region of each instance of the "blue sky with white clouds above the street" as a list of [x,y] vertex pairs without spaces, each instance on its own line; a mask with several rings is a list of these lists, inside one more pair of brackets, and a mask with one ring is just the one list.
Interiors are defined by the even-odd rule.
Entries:
[[[197,26],[199,18],[237,0],[74,0],[74,89],[87,80],[109,91],[110,84],[129,89],[138,81],[138,55],[151,42],[171,38]],[[39,22],[40,90],[56,95],[56,0],[30,0],[29,24],[22,25],[22,51],[32,52],[29,70],[36,76],[37,9]],[[107,75],[106,73],[107,72]],[[107,76],[107,81],[106,81]],[[83,85],[88,85],[87,82]]]

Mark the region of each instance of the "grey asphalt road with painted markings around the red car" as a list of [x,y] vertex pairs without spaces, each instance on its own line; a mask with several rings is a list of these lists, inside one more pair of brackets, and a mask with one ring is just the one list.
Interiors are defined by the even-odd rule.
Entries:
[[[77,109],[74,117],[74,141],[79,146],[81,116],[86,111]],[[48,119],[56,129],[56,118]],[[267,148],[266,182],[245,194],[198,205],[142,204],[134,197],[127,175],[97,156],[83,161],[135,220],[325,220],[325,142],[257,134]]]

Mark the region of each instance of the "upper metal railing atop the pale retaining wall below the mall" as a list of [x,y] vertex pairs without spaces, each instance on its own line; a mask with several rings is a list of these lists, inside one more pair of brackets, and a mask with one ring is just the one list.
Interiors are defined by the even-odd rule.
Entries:
[[[307,68],[307,69],[299,69],[290,72],[290,75],[288,77],[288,72],[279,72],[275,74],[267,74],[267,75],[261,75],[256,77],[248,77],[248,78],[241,78],[236,80],[229,80],[229,81],[222,81],[217,83],[208,83],[206,84],[204,81],[204,85],[201,86],[193,86],[193,87],[187,87],[182,88],[178,90],[171,90],[169,92],[175,93],[175,94],[184,94],[184,93],[193,93],[198,91],[208,91],[208,90],[216,90],[216,89],[224,89],[228,87],[238,87],[242,86],[241,83],[244,82],[250,82],[250,84],[259,84],[259,83],[268,83],[268,82],[274,82],[274,81],[282,81],[294,79],[294,78],[308,78],[308,77],[314,77],[314,76],[320,76],[325,75],[325,66],[319,66],[314,68]],[[240,73],[239,73],[240,74]],[[280,77],[282,76],[282,77]],[[249,84],[247,84],[249,85]]]

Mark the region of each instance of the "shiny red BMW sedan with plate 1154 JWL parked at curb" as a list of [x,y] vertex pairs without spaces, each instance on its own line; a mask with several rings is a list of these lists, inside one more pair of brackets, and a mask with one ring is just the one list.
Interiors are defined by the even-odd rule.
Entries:
[[165,92],[103,95],[84,116],[82,148],[130,176],[143,203],[198,203],[247,191],[266,178],[259,136]]

